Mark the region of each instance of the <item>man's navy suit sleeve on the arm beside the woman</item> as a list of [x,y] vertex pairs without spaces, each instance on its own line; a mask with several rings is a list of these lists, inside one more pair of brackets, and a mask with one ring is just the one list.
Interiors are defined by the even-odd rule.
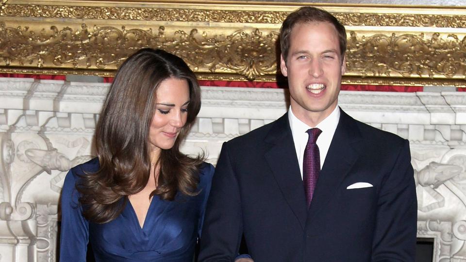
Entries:
[[238,255],[243,232],[241,199],[228,143],[224,143],[207,201],[200,262],[232,262]]

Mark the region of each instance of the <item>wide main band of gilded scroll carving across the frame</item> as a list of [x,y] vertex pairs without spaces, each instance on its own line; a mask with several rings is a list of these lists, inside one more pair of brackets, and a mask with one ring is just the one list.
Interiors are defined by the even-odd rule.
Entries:
[[[348,75],[362,77],[461,78],[466,76],[466,36],[433,33],[359,35],[350,31]],[[181,56],[197,72],[239,74],[248,80],[276,74],[277,32],[237,30],[209,35],[197,29],[166,32],[86,24],[74,31],[10,28],[0,23],[4,66],[114,70],[135,49],[162,48]],[[28,44],[29,42],[29,44]]]

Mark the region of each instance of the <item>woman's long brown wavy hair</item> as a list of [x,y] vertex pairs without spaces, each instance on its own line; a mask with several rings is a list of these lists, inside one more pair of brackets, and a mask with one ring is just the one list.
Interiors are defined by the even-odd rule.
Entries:
[[200,110],[200,87],[193,71],[176,55],[157,49],[141,49],[119,67],[103,103],[96,127],[95,143],[100,169],[82,176],[76,188],[83,216],[95,223],[114,220],[128,196],[140,192],[150,175],[150,122],[155,113],[155,94],[168,78],[189,84],[188,115],[172,148],[162,150],[156,195],[171,201],[177,192],[194,196],[203,156],[180,152]]

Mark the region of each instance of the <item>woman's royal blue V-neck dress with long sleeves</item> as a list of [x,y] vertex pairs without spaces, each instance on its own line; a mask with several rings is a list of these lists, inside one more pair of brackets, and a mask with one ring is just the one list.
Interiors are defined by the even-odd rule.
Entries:
[[78,205],[75,185],[84,171],[95,172],[97,158],[73,167],[62,189],[60,261],[86,261],[88,241],[97,262],[192,262],[200,237],[207,197],[214,167],[203,164],[200,170],[200,194],[186,197],[177,194],[165,201],[154,196],[143,228],[140,227],[130,201],[113,221],[96,224],[87,221]]

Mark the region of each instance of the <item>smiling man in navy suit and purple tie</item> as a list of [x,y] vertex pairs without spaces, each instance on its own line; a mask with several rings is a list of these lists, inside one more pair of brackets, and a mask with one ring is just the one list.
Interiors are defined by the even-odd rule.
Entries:
[[233,261],[242,237],[256,262],[414,261],[409,143],[337,106],[345,28],[303,7],[280,41],[290,110],[223,145],[200,261]]

